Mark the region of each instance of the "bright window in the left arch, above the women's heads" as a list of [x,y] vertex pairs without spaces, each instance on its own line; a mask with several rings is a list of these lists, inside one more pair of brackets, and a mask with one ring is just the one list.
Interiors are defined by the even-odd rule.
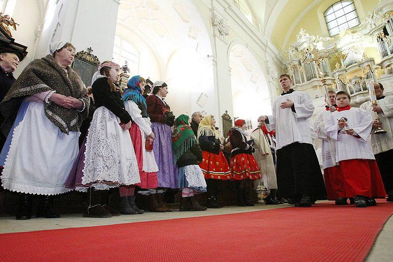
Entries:
[[136,75],[139,72],[139,52],[130,42],[120,38],[118,35],[114,37],[113,61],[120,66],[123,66],[125,61],[127,61],[131,74]]

